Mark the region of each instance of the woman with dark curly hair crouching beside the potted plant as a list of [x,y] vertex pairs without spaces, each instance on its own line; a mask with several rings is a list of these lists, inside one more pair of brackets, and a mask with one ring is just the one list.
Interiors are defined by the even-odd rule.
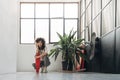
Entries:
[[[35,40],[35,44],[36,44],[35,59],[40,59],[41,73],[47,73],[47,66],[49,66],[50,62],[48,61],[47,57],[45,40],[43,38],[37,38]],[[37,53],[39,53],[40,55]],[[37,68],[35,63],[33,63],[33,66],[34,68]]]

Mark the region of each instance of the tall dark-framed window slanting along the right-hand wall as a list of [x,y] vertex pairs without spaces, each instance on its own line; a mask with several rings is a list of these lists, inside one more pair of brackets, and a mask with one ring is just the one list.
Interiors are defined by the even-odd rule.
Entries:
[[93,32],[102,37],[120,26],[119,3],[120,0],[80,0],[81,38],[89,41]]

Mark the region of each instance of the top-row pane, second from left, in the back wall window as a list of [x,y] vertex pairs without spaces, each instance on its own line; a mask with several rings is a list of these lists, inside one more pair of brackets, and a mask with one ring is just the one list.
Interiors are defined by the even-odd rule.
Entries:
[[36,4],[36,18],[49,18],[49,4]]

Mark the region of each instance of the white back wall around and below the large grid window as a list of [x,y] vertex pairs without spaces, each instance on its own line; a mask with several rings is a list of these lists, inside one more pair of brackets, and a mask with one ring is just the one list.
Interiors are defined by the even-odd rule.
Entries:
[[[79,2],[79,0],[20,0],[20,2]],[[18,5],[19,6],[19,5]],[[20,27],[20,26],[19,26]],[[18,37],[19,38],[19,37]],[[53,46],[48,44],[48,51]],[[18,45],[17,55],[17,71],[34,71],[32,63],[34,62],[34,45]],[[62,68],[61,56],[54,61],[54,58],[50,58],[51,65],[48,67],[48,71],[59,71]]]

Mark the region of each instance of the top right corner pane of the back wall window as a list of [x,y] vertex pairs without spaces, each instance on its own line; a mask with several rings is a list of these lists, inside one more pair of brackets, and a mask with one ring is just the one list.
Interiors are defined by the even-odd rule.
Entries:
[[78,4],[65,4],[65,18],[78,18]]

